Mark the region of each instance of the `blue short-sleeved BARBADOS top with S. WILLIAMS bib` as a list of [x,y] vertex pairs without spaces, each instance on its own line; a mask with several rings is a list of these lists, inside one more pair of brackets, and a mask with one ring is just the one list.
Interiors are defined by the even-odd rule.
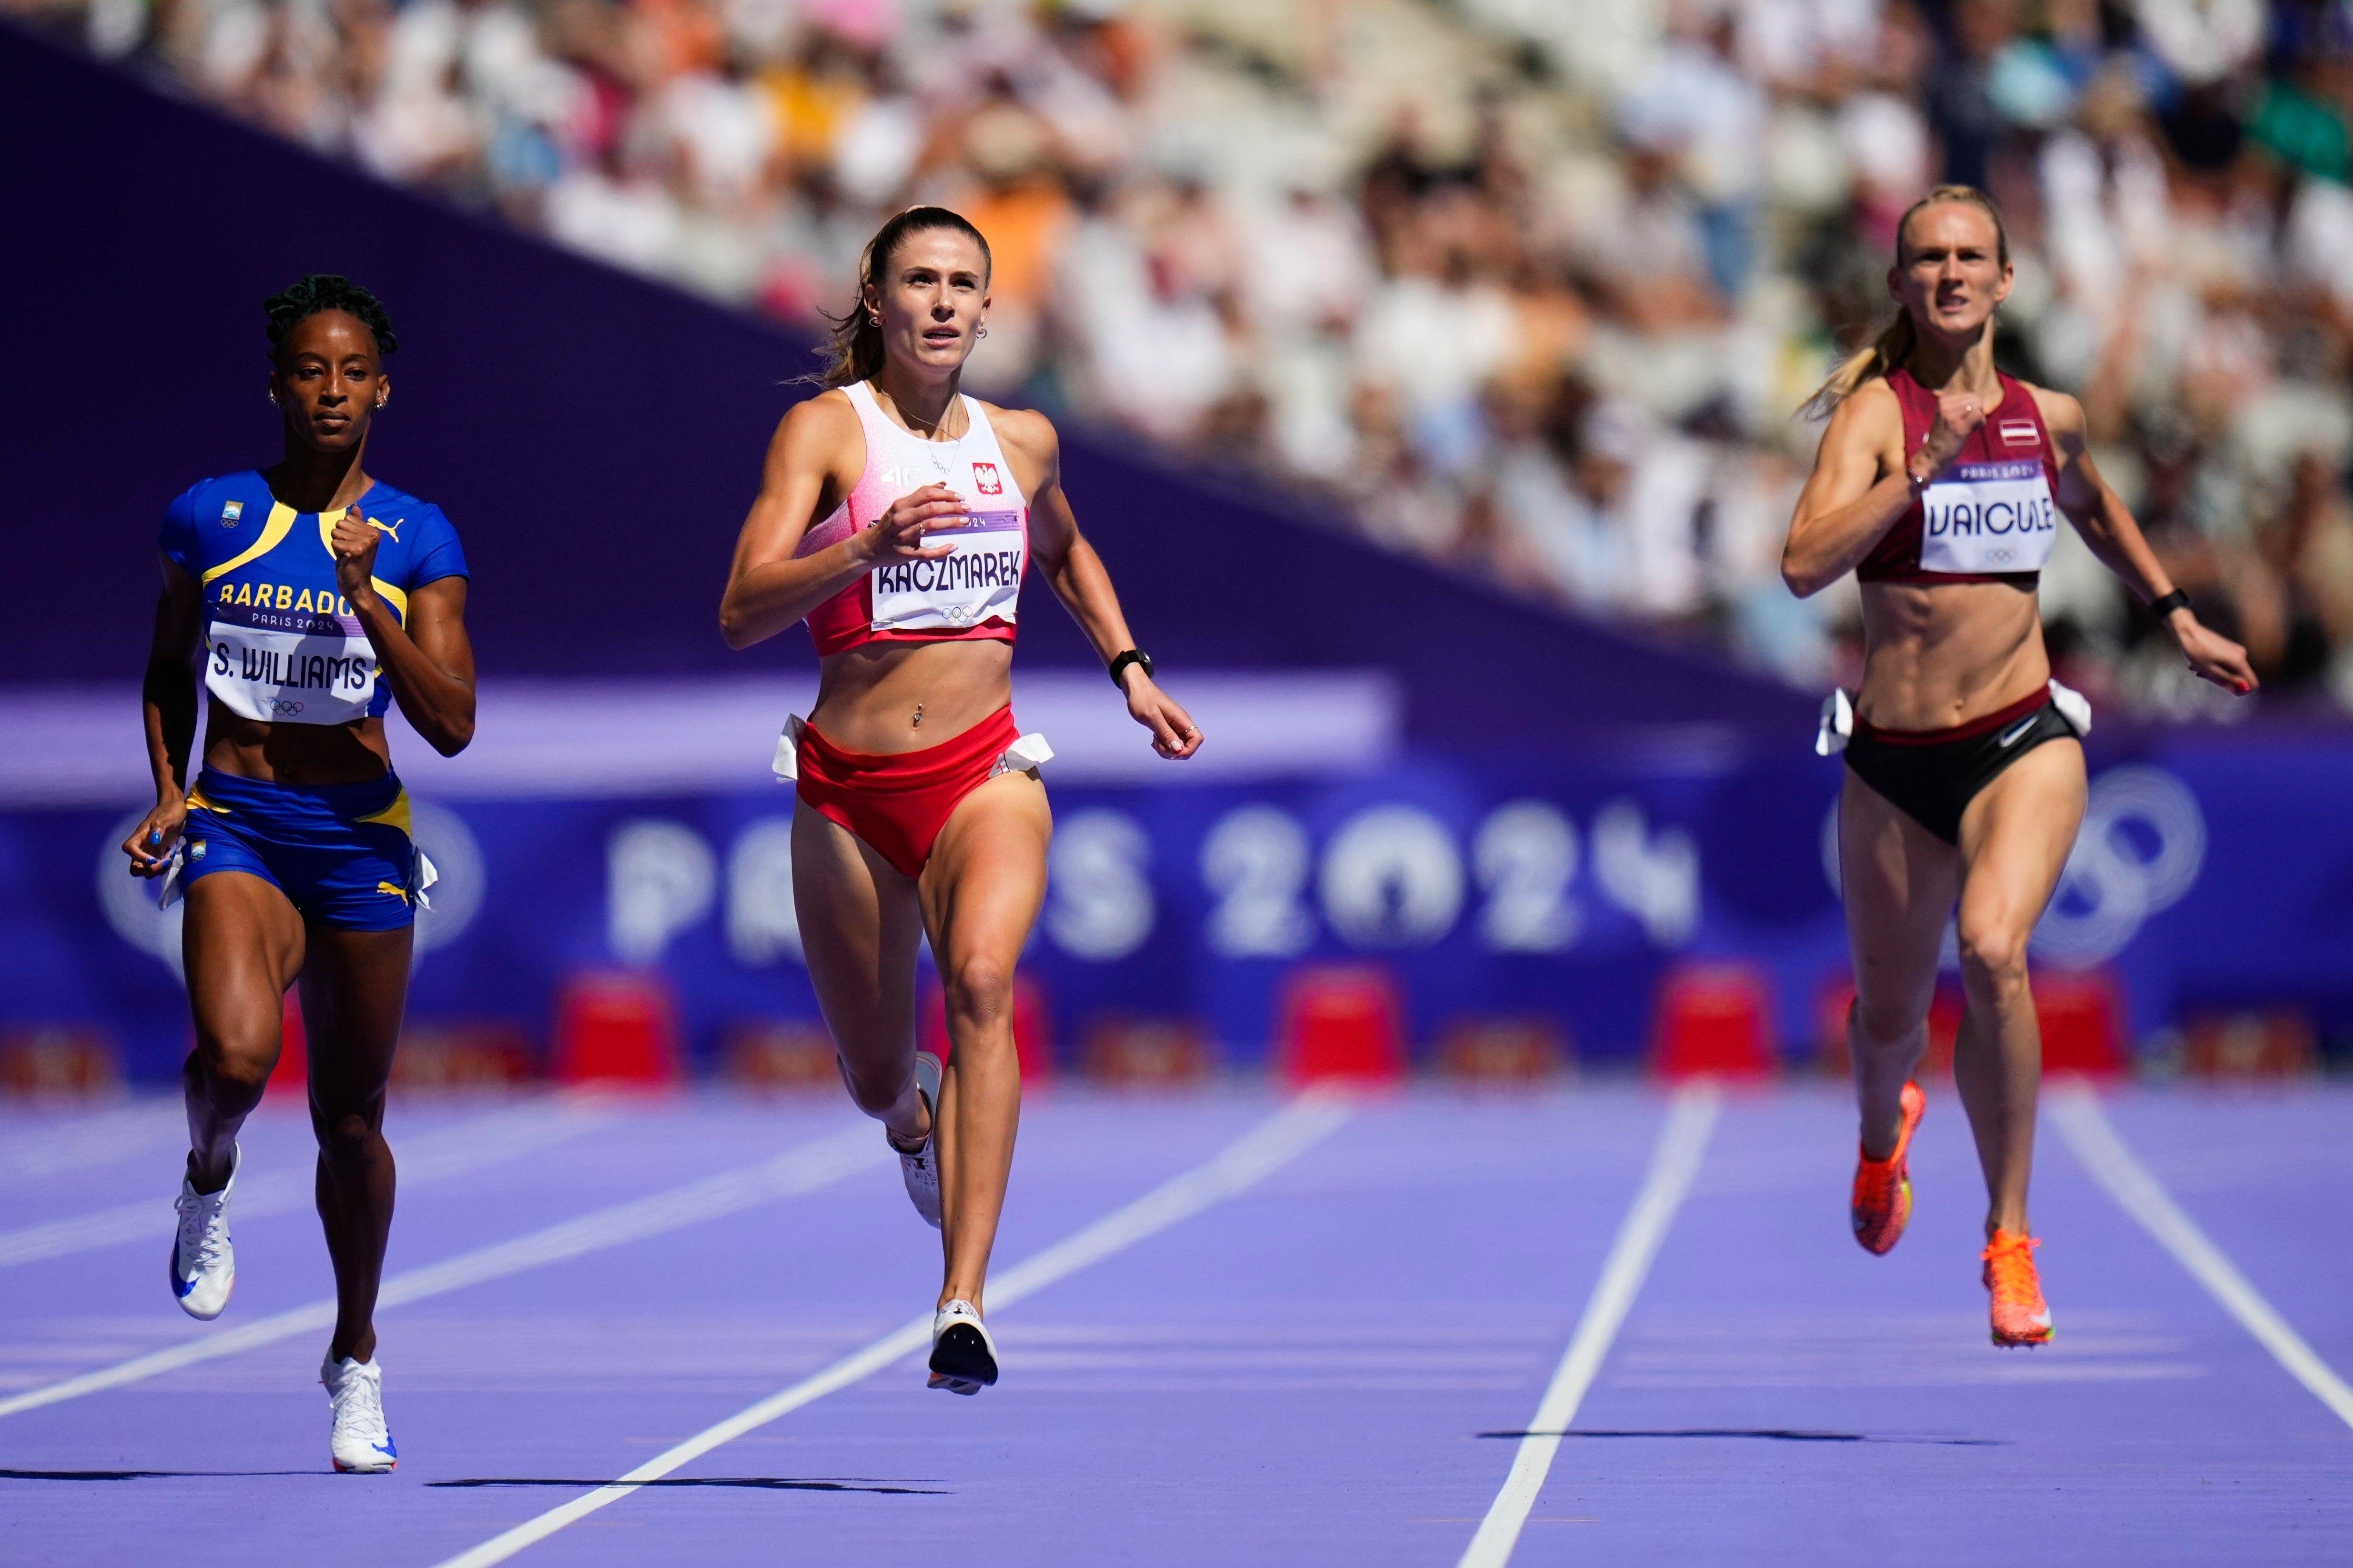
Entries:
[[[407,625],[409,592],[466,576],[456,529],[428,501],[381,480],[351,508],[384,541],[376,595]],[[268,724],[353,724],[393,691],[376,649],[334,590],[336,512],[296,512],[254,473],[200,480],[162,515],[162,552],[205,590],[205,689]]]

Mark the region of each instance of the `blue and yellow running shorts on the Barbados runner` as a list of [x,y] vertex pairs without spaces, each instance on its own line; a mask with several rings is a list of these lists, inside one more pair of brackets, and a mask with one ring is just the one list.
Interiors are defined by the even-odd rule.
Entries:
[[306,919],[398,931],[416,919],[416,846],[398,773],[358,785],[282,785],[205,769],[188,790],[181,886],[261,877]]

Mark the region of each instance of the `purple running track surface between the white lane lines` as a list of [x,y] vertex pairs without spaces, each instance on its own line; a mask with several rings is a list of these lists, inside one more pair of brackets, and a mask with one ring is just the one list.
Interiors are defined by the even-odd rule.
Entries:
[[[1261,1093],[1061,1091],[1024,1112],[1000,1274],[1200,1168]],[[2148,1171],[2353,1371],[2353,1095],[2125,1091]],[[388,1274],[816,1145],[838,1100],[412,1103]],[[1619,1084],[1362,1103],[1247,1192],[991,1316],[979,1399],[899,1361],[518,1563],[1452,1566],[1574,1331],[1664,1126]],[[1845,1234],[1852,1114],[1729,1095],[1553,1462],[1515,1563],[2332,1563],[2353,1429],[2045,1131],[2059,1340],[1986,1345],[1981,1182],[1951,1091],[1887,1258]],[[873,1133],[880,1140],[880,1133]],[[266,1110],[238,1295],[169,1302],[176,1107],[0,1114],[0,1399],[327,1295],[308,1126]],[[501,1150],[513,1147],[513,1154]],[[9,1262],[33,1227],[148,1234]],[[275,1204],[275,1211],[268,1211]],[[49,1246],[49,1241],[45,1241]],[[393,1476],[334,1476],[322,1333],[0,1418],[0,1561],[431,1568],[925,1309],[936,1244],[875,1159],[379,1319]]]

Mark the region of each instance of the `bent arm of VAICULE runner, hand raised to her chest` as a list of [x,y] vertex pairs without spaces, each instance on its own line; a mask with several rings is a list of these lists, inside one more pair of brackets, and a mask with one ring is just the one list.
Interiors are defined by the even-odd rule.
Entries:
[[1781,548],[1788,590],[1807,599],[1854,571],[1911,510],[1918,487],[1951,468],[1969,433],[1984,423],[1986,407],[1974,393],[1944,393],[1927,444],[1906,461],[1897,395],[1885,381],[1857,388],[1831,411],[1814,473],[1798,494]]

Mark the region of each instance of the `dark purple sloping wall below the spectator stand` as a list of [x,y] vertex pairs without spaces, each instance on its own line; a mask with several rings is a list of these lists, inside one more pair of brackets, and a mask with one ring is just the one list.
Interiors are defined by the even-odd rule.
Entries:
[[[261,296],[306,270],[381,292],[405,348],[374,468],[440,501],[475,567],[487,672],[741,661],[718,590],[781,386],[776,327],[376,183],[0,26],[0,357],[9,564],[0,679],[120,679],[144,656],[151,541],[191,480],[275,456]],[[1327,520],[1066,433],[1068,489],[1162,661],[1388,665],[1438,745],[1638,724],[1802,736],[1809,698],[1522,604]],[[1021,656],[1085,663],[1031,585]],[[758,661],[758,663],[753,663]]]

